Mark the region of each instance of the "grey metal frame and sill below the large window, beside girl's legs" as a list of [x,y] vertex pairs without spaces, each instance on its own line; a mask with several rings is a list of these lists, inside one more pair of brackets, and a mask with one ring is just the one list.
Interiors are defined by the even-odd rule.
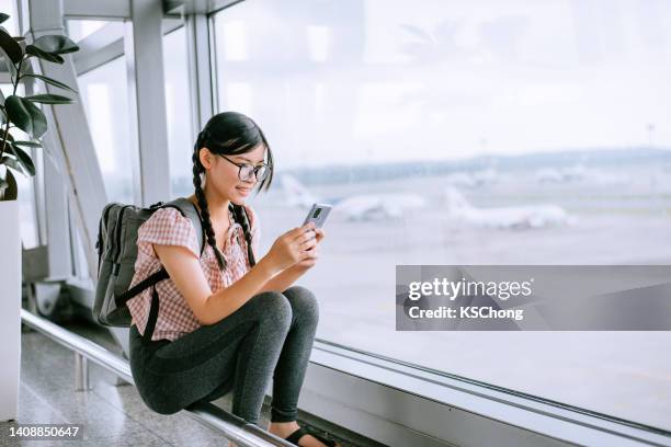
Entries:
[[323,341],[300,408],[385,444],[421,433],[454,445],[671,446],[671,432]]

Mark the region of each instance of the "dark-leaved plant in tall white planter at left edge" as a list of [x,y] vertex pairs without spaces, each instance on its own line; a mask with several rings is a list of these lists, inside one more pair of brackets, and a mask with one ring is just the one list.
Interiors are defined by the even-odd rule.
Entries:
[[[0,13],[0,23],[8,19]],[[60,35],[44,35],[26,45],[25,37],[12,37],[0,26],[0,57],[11,78],[11,94],[5,98],[0,92],[0,421],[16,417],[21,364],[21,232],[14,175],[35,175],[29,152],[42,148],[39,138],[47,130],[46,117],[36,104],[72,102],[59,94],[23,98],[16,90],[25,80],[39,80],[75,92],[62,82],[33,73],[31,58],[62,64],[60,55],[78,49]]]

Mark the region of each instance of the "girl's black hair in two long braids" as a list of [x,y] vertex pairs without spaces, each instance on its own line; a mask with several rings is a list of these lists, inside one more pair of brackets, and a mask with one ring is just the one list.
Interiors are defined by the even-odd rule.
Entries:
[[[193,186],[198,200],[198,208],[201,208],[201,218],[203,219],[203,229],[205,230],[207,244],[213,248],[220,271],[226,268],[227,262],[224,254],[217,247],[215,232],[212,228],[209,208],[207,206],[207,199],[205,198],[205,192],[203,191],[202,185],[202,175],[205,173],[205,168],[201,163],[201,158],[198,154],[201,148],[206,147],[213,153],[236,156],[253,150],[253,148],[255,148],[259,144],[263,144],[263,146],[268,149],[268,168],[270,169],[270,175],[261,181],[259,188],[257,190],[258,194],[263,187],[265,187],[265,191],[268,191],[272,183],[273,154],[263,131],[250,117],[238,112],[223,112],[214,115],[198,134],[193,149]],[[247,241],[249,262],[253,266],[257,264],[257,260],[254,259],[254,254],[252,252],[252,236],[249,218],[244,213],[244,209],[242,209],[242,205],[236,205],[231,202],[228,209],[230,216],[234,218],[234,221],[242,227],[244,240]]]

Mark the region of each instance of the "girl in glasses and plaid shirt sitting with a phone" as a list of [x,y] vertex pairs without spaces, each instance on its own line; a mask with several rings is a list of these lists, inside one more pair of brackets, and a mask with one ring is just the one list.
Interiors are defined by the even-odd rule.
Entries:
[[170,275],[127,302],[141,399],[172,414],[234,390],[232,413],[258,425],[272,377],[269,431],[298,446],[339,446],[296,422],[319,310],[309,289],[292,284],[317,262],[323,230],[293,228],[257,262],[260,225],[244,200],[258,182],[258,191],[270,187],[273,157],[251,118],[213,116],[192,159],[195,194],[187,199],[203,222],[202,257],[195,228],[174,208],[156,210],[138,229],[130,287],[161,265]]

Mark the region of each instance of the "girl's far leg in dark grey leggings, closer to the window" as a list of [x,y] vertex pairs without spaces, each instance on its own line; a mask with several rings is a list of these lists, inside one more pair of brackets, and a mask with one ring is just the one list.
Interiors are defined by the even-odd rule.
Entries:
[[296,421],[298,394],[319,321],[317,299],[308,288],[292,286],[283,295],[292,307],[292,321],[273,374],[271,422]]

